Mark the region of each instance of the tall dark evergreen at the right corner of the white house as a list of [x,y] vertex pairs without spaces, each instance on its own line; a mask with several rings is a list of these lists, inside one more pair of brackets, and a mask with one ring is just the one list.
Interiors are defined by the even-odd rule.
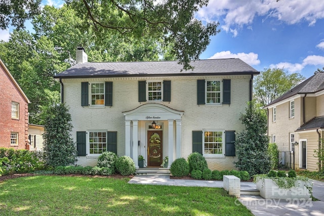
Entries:
[[251,101],[248,103],[246,113],[241,114],[239,120],[245,125],[246,130],[236,135],[235,166],[239,170],[248,171],[251,176],[267,173],[271,164],[265,110],[261,109],[255,101]]

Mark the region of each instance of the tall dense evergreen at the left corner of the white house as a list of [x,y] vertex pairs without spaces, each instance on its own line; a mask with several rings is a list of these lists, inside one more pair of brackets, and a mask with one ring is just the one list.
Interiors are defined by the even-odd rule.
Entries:
[[66,166],[77,161],[76,144],[71,138],[72,124],[68,108],[52,105],[47,113],[44,132],[44,155],[49,166]]

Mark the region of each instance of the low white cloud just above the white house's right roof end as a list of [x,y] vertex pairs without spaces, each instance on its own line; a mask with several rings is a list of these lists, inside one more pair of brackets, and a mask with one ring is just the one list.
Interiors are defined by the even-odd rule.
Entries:
[[222,51],[222,52],[215,53],[209,59],[215,59],[215,58],[239,58],[250,65],[260,64],[260,60],[258,59],[258,54],[252,52],[235,54],[235,53],[231,53],[230,51]]

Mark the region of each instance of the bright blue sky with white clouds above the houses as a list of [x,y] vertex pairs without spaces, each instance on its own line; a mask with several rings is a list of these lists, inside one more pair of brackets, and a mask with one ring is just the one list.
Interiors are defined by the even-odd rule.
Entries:
[[[200,59],[240,58],[259,71],[278,67],[306,78],[324,66],[324,1],[210,0],[196,18],[219,21],[221,29]],[[8,39],[9,31],[0,31],[0,40]]]

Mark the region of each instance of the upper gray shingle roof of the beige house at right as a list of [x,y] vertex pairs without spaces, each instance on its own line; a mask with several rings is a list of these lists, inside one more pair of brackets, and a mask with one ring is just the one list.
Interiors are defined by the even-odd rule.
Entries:
[[315,93],[318,91],[324,90],[324,73],[316,73],[295,88],[281,95],[277,99],[273,100],[267,106],[280,102],[281,100],[288,99],[296,94],[304,94],[304,93]]

